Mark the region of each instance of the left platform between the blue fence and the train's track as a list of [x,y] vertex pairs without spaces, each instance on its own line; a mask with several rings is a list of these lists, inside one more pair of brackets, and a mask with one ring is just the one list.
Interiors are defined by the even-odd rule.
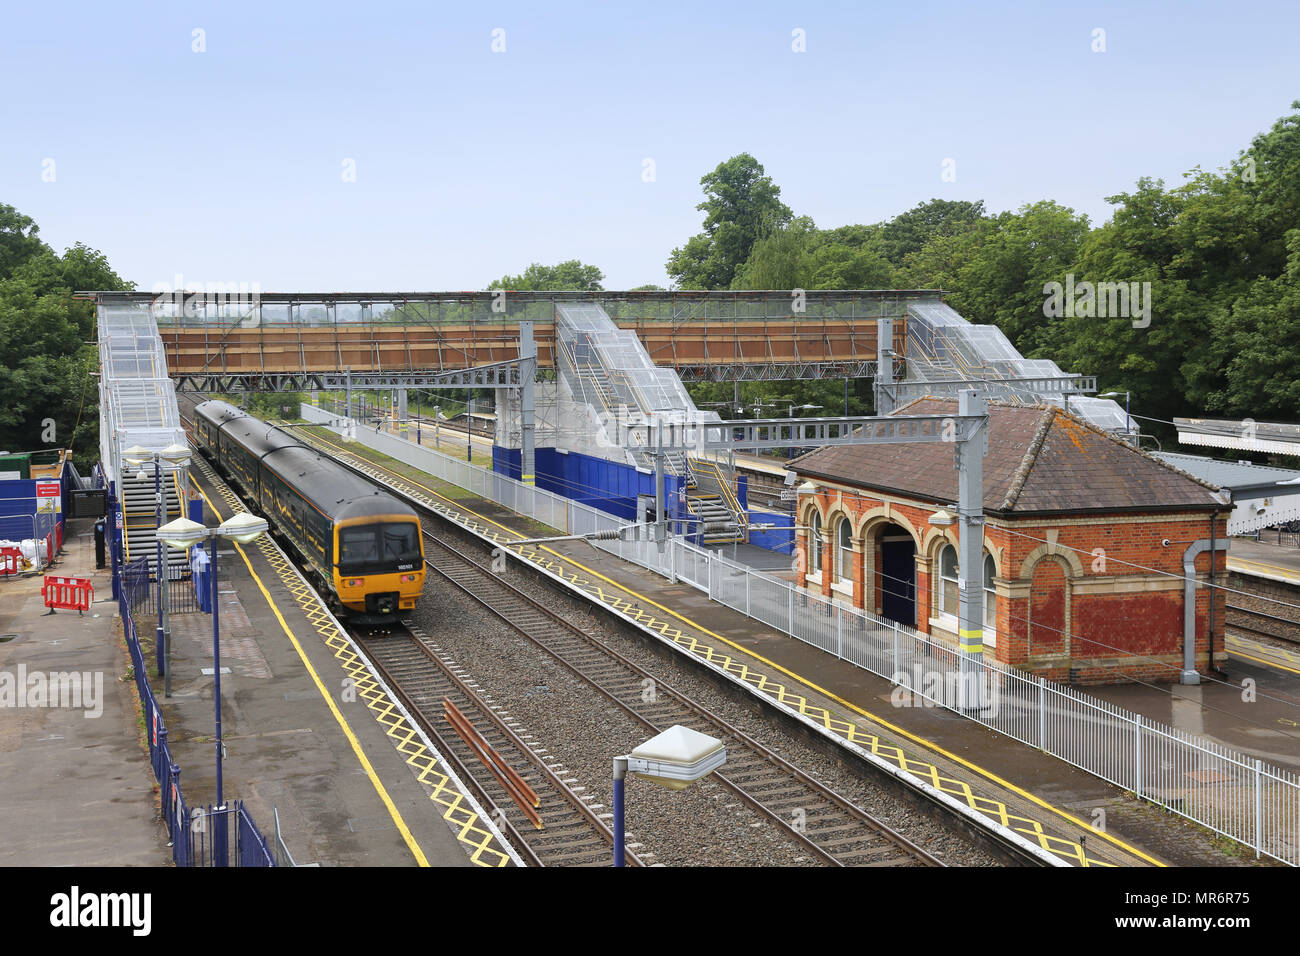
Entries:
[[[233,514],[205,463],[191,466],[191,481],[209,525]],[[244,801],[268,840],[277,809],[299,865],[508,865],[274,542],[222,541],[217,554],[225,795]],[[172,620],[172,697],[160,678],[152,684],[187,799],[200,804],[216,791],[212,617]]]

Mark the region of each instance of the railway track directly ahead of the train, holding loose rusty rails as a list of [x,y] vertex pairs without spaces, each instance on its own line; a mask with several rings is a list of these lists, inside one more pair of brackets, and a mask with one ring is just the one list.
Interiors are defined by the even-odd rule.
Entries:
[[[350,628],[351,630],[351,628]],[[351,630],[354,640],[365,649],[370,663],[381,672],[412,718],[437,743],[443,758],[474,797],[491,814],[515,848],[532,866],[608,866],[614,852],[614,834],[528,743],[514,731],[482,695],[455,670],[441,649],[406,626],[374,630]],[[441,719],[443,701],[451,701],[495,750],[502,763],[517,771],[537,793],[537,814],[543,822],[538,830],[511,800],[506,788],[481,770],[476,750]],[[645,866],[634,852],[627,851],[629,866]]]

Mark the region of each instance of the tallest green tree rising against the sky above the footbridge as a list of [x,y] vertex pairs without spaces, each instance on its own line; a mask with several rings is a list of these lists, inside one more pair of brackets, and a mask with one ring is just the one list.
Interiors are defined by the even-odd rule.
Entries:
[[[681,289],[729,289],[754,243],[780,229],[793,213],[763,165],[742,152],[699,179],[705,232],[668,256],[667,272]],[[774,286],[781,287],[781,286]]]

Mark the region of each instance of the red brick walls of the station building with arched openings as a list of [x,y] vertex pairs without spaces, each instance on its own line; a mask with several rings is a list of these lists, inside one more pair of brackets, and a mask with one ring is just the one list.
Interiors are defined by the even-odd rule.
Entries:
[[[890,524],[901,525],[918,542],[916,626],[932,632],[939,550],[944,544],[957,545],[958,527],[931,525],[933,506],[824,485],[816,494],[801,496],[800,524],[807,523],[814,505],[824,536],[819,591],[832,594],[836,522],[848,515],[861,542],[861,554],[854,555],[853,604],[878,613],[880,535]],[[1226,514],[1218,516],[1216,535],[1226,540]],[[806,537],[800,532],[801,549]],[[984,542],[998,568],[997,644],[987,653],[1060,680],[1176,680],[1183,662],[1183,554],[1206,537],[1209,516],[1204,512],[989,518]],[[1226,553],[1216,551],[1216,580],[1226,583]],[[1209,572],[1209,554],[1196,558],[1199,580]],[[807,587],[805,575],[798,581]],[[1196,589],[1196,670],[1202,674],[1225,657],[1226,597],[1216,592],[1214,600],[1212,637],[1210,594],[1206,588]]]

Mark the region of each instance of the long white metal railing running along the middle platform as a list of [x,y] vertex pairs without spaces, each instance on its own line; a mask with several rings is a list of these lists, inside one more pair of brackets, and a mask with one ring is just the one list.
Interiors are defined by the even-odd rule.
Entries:
[[[306,405],[303,418],[338,421]],[[355,432],[376,451],[560,533],[588,535],[624,523],[396,436],[363,425]],[[1257,855],[1300,865],[1300,775],[1295,773],[998,661],[966,662],[963,670],[954,648],[913,627],[835,604],[677,537],[662,553],[644,538],[592,544],[672,575],[722,605],[1244,843]]]

